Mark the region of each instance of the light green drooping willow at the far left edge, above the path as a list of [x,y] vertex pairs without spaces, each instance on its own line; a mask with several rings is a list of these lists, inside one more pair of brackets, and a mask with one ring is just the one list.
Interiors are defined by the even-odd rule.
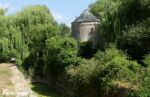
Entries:
[[16,57],[17,63],[21,64],[20,49],[20,31],[17,29],[14,16],[6,16],[5,10],[2,10],[0,15],[0,60],[8,61],[10,57]]

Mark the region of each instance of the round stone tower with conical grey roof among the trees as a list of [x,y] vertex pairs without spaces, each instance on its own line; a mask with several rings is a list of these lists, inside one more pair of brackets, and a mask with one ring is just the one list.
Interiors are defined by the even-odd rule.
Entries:
[[75,21],[72,22],[72,36],[80,42],[93,42],[95,47],[99,44],[97,27],[100,20],[88,10],[85,10]]

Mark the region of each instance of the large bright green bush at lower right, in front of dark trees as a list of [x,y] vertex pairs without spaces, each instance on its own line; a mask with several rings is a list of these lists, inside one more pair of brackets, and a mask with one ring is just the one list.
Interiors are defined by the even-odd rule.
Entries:
[[132,83],[136,80],[140,65],[130,61],[122,51],[108,48],[105,52],[98,52],[95,58],[99,60],[97,71],[102,81],[109,79]]

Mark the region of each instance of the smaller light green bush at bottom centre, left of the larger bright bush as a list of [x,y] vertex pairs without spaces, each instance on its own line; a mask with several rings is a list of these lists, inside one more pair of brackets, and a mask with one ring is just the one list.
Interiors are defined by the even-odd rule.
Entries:
[[92,77],[95,76],[96,64],[94,61],[82,59],[79,66],[66,68],[69,80],[73,82],[76,88],[91,83]]

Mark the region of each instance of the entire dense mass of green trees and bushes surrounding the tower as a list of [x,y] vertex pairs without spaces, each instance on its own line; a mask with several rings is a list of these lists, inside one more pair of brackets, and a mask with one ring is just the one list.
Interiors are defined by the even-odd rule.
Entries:
[[1,9],[0,62],[15,57],[28,76],[61,77],[75,97],[149,97],[150,1],[97,0],[90,10],[101,19],[98,30],[106,43],[96,53],[85,43],[79,49],[70,29],[57,24],[46,6],[10,16]]

